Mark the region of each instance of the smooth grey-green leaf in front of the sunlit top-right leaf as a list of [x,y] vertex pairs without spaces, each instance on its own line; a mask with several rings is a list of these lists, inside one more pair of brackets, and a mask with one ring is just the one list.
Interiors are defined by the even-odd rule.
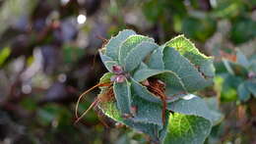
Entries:
[[196,70],[195,66],[181,56],[174,48],[164,48],[163,62],[166,70],[175,72],[181,78],[188,92],[193,92],[212,84],[212,79],[205,79]]

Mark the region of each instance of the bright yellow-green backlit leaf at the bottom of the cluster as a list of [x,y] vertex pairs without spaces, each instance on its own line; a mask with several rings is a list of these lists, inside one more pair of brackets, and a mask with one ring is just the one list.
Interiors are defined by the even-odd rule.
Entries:
[[204,118],[175,113],[170,115],[164,144],[203,144],[211,126]]

